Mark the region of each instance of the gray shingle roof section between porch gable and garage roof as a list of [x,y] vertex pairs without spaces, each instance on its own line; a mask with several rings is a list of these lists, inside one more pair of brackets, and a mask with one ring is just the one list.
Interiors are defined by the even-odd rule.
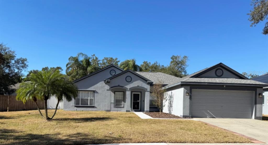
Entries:
[[178,82],[181,78],[175,77],[172,75],[168,75],[162,72],[136,72],[139,75],[142,75],[143,77],[146,77],[147,79],[151,80],[155,83],[162,82],[163,84],[172,84],[175,82]]

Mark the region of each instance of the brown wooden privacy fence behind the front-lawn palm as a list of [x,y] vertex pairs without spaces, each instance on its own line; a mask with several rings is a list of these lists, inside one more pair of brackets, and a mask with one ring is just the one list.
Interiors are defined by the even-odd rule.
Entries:
[[[37,101],[39,109],[44,109],[44,101]],[[16,96],[0,95],[0,111],[37,110],[35,102],[29,100],[25,104],[17,101]]]

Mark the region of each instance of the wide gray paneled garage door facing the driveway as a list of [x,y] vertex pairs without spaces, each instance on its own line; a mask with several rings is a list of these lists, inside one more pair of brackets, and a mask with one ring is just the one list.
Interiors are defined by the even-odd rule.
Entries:
[[252,91],[192,90],[192,117],[251,118]]

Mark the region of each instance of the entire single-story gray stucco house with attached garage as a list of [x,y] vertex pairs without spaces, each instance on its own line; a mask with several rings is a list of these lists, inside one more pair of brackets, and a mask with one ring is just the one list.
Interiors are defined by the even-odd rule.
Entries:
[[161,72],[133,72],[109,65],[73,81],[79,97],[64,100],[64,110],[157,111],[150,88],[162,82],[167,90],[164,112],[182,117],[262,118],[263,87],[219,63],[178,78]]

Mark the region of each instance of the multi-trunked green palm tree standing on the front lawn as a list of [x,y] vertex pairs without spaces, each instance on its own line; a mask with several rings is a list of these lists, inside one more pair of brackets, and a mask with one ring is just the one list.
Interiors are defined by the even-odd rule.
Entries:
[[[77,97],[76,90],[75,85],[67,81],[66,76],[60,73],[59,70],[42,70],[35,74],[32,73],[29,76],[29,82],[21,84],[20,88],[17,90],[16,99],[23,102],[28,100],[35,101],[37,99],[44,100],[46,113],[46,117],[44,118],[48,120],[51,118],[47,115],[47,100],[50,99],[51,96],[56,96],[58,100],[62,100],[62,97],[65,97],[67,101],[71,101],[72,97]],[[57,110],[55,110],[55,113],[56,111]],[[39,113],[43,117],[40,110]]]

